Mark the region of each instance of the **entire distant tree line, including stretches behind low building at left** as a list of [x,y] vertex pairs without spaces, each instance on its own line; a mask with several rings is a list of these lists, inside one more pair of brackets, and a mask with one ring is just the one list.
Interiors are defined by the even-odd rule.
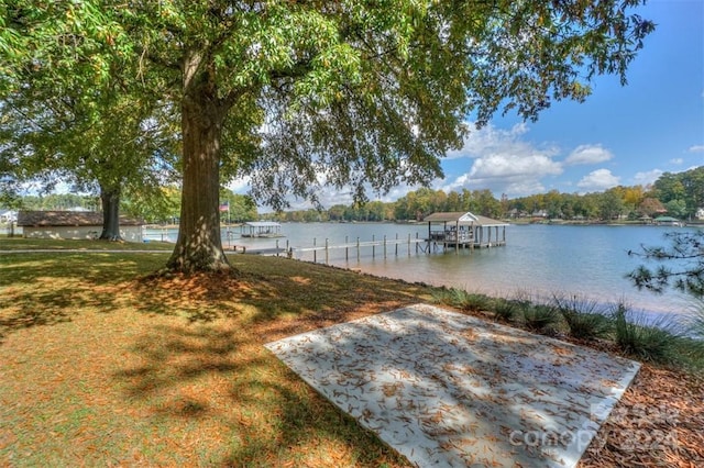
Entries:
[[[123,200],[122,212],[144,218],[152,223],[174,223],[180,210],[180,192],[177,188],[164,189],[164,207],[142,207]],[[421,220],[440,211],[471,211],[484,216],[546,218],[562,220],[614,219],[639,220],[644,216],[670,215],[694,220],[704,207],[704,166],[683,172],[664,172],[651,186],[618,186],[603,192],[561,193],[551,190],[528,197],[497,199],[488,190],[468,190],[449,193],[421,188],[410,191],[396,201],[369,201],[358,204],[334,204],[328,209],[293,210],[258,213],[251,198],[229,190],[220,193],[222,221],[232,223],[268,219],[289,222],[315,221],[405,221]],[[92,197],[77,194],[50,194],[24,197],[21,207],[29,210],[65,210],[74,207],[92,209],[98,202]],[[700,212],[701,214],[701,212]]]

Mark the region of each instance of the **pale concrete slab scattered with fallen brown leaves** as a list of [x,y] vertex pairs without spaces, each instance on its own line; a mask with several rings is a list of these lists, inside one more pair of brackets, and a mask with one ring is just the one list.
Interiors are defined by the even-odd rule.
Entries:
[[419,467],[573,467],[639,369],[426,304],[266,347]]

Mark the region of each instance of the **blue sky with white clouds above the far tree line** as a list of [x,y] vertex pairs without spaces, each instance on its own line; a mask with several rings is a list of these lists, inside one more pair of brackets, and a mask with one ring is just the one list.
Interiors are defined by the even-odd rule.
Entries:
[[[650,0],[632,11],[657,27],[630,64],[626,87],[617,76],[600,76],[585,102],[553,102],[536,123],[494,119],[442,160],[446,177],[431,187],[490,189],[497,198],[601,192],[704,165],[704,1]],[[414,189],[397,187],[380,199]],[[321,199],[326,207],[351,202],[332,190]]]

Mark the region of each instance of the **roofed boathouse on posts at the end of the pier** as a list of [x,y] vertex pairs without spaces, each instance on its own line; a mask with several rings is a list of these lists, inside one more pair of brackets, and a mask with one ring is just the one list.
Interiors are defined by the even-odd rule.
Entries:
[[470,212],[432,213],[428,223],[428,246],[475,248],[506,245],[508,223]]

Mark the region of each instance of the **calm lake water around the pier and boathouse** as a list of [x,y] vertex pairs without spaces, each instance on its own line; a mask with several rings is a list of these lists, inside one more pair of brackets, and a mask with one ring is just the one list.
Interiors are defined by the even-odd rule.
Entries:
[[[584,294],[604,303],[624,300],[632,309],[651,313],[681,313],[691,307],[691,299],[668,291],[662,296],[638,291],[624,276],[642,260],[629,257],[628,250],[638,252],[641,245],[668,245],[663,234],[673,229],[657,226],[574,226],[574,225],[510,225],[506,227],[506,246],[482,249],[454,249],[430,254],[407,254],[407,244],[387,246],[386,258],[382,247],[363,248],[358,261],[356,250],[350,248],[349,260],[344,249],[330,250],[331,265],[354,268],[376,276],[422,281],[436,286],[462,288],[471,292],[510,297],[519,292],[536,299],[548,299],[553,293]],[[689,229],[689,227],[684,227]],[[380,223],[284,223],[279,247],[322,246],[345,242],[407,239],[427,237],[427,224]],[[161,234],[160,234],[161,233]],[[150,238],[175,241],[175,231],[154,231]],[[223,230],[223,245],[248,246],[250,249],[273,248],[276,239],[241,238],[238,229]],[[311,253],[296,254],[295,258],[314,260]],[[317,261],[324,263],[324,253],[317,253]]]

